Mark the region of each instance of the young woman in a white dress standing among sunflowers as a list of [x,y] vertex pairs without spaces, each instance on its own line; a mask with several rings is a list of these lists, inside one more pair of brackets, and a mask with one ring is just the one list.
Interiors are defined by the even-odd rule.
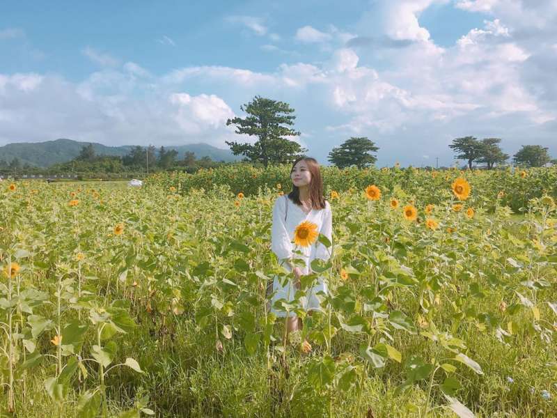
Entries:
[[[317,231],[329,238],[332,242],[332,214],[329,202],[323,197],[323,180],[319,164],[314,158],[301,157],[292,165],[290,171],[292,180],[292,192],[276,199],[273,208],[273,226],[271,231],[271,248],[278,257],[279,262],[288,272],[293,272],[295,283],[288,281],[285,286],[281,286],[278,277],[273,281],[273,296],[271,306],[279,299],[291,302],[299,288],[299,279],[304,274],[311,273],[311,261],[315,258],[328,260],[331,256],[331,248],[327,248],[322,243],[308,247],[295,247],[292,244],[296,227],[304,221],[313,222],[317,225]],[[295,256],[292,251],[301,250],[305,261],[303,267],[295,266],[292,258]],[[297,255],[297,257],[300,257]],[[315,296],[318,292],[327,293],[327,284],[322,278],[317,279],[317,284],[313,288],[306,290],[306,295],[302,302],[304,309],[319,309],[320,303]],[[271,308],[276,316],[285,316],[284,311],[277,311]],[[288,318],[288,332],[299,330],[300,322],[294,312],[290,312]]]

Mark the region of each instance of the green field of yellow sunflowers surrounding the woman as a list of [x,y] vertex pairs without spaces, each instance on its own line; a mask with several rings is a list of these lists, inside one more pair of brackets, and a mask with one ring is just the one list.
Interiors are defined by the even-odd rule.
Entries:
[[323,173],[288,336],[289,167],[0,183],[0,416],[556,416],[557,170]]

